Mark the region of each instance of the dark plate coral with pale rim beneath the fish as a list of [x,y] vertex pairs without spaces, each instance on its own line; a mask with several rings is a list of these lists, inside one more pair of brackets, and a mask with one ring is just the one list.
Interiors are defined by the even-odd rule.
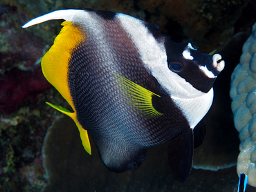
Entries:
[[[48,185],[44,191],[234,191],[235,167],[220,171],[192,169],[188,180],[174,180],[167,164],[167,144],[149,148],[147,159],[137,171],[107,170],[91,142],[92,155],[84,151],[80,135],[69,117],[55,119],[43,148]],[[246,189],[250,191],[250,189]]]

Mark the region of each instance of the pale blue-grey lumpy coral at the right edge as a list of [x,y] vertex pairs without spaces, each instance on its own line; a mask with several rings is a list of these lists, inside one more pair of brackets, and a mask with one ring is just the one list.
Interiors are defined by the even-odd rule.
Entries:
[[256,186],[256,23],[243,46],[240,63],[231,76],[230,97],[234,123],[239,131],[240,153],[237,174],[248,175],[248,184]]

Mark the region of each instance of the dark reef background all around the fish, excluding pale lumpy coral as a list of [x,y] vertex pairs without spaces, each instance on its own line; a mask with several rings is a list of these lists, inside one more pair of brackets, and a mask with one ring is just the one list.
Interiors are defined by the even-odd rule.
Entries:
[[[206,136],[194,150],[185,183],[170,172],[166,144],[149,148],[137,171],[111,173],[95,145],[92,155],[84,151],[73,120],[45,104],[68,108],[40,67],[62,21],[21,26],[67,8],[122,12],[156,23],[173,41],[190,41],[201,52],[217,49],[222,55],[226,67],[214,83],[214,103],[204,117]],[[255,0],[0,0],[0,192],[237,191],[240,142],[230,108],[230,77],[255,22]]]

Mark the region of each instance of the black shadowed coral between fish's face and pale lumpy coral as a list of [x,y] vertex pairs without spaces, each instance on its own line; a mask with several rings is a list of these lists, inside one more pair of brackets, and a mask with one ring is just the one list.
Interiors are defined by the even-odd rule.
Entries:
[[216,171],[237,164],[240,141],[230,108],[230,76],[249,36],[248,32],[239,32],[217,50],[225,61],[225,69],[214,82],[214,101],[203,117],[206,135],[203,144],[194,149],[193,168]]

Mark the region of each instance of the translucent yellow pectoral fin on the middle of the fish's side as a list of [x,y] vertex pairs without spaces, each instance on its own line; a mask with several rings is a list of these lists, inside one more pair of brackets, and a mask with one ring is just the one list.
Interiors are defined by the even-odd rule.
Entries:
[[122,93],[127,97],[129,104],[134,106],[138,113],[149,118],[163,115],[163,113],[156,111],[152,104],[152,97],[160,97],[159,95],[156,95],[152,91],[143,88],[118,73],[113,73],[113,77],[120,86]]

